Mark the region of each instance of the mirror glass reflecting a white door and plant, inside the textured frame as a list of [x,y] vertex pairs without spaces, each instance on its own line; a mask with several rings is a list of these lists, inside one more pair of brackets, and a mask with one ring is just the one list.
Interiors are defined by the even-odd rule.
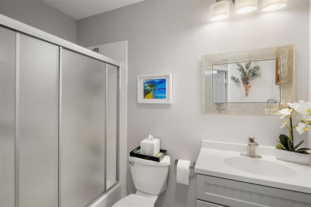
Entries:
[[[237,63],[212,65],[212,94],[213,103],[267,103],[268,99],[276,98],[280,101],[280,85],[276,83],[278,76],[278,60],[252,61],[250,68],[258,66],[258,76],[253,77],[249,83],[249,90],[245,94],[241,73]],[[245,66],[248,62],[239,62]],[[245,68],[245,67],[243,67]],[[245,72],[250,72],[250,69]],[[253,73],[255,74],[255,73]],[[238,79],[236,83],[232,78]]]

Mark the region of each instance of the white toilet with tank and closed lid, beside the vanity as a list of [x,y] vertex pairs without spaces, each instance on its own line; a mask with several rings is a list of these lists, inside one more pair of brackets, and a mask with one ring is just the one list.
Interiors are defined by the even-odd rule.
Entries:
[[160,162],[128,156],[136,188],[112,207],[154,207],[159,194],[166,189],[171,158],[165,155]]

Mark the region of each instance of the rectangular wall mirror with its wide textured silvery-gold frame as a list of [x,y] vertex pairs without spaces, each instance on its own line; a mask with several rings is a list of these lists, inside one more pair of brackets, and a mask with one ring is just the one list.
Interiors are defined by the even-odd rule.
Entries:
[[276,115],[296,101],[295,46],[202,56],[202,113]]

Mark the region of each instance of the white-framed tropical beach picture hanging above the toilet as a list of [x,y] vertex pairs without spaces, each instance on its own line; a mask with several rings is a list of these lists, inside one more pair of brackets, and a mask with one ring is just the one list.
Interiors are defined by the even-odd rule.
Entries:
[[138,104],[172,104],[172,73],[138,75]]

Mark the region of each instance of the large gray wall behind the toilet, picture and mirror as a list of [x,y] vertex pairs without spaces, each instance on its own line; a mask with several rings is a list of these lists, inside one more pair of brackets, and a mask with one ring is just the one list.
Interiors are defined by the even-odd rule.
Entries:
[[[175,159],[195,161],[201,139],[276,145],[279,116],[202,115],[201,55],[296,45],[297,100],[308,99],[309,0],[288,0],[277,12],[210,22],[210,1],[147,0],[77,21],[77,43],[84,47],[128,40],[127,153],[149,134]],[[259,1],[260,6],[260,1]],[[173,104],[137,104],[137,75],[173,73]],[[295,139],[307,139],[294,134]],[[228,149],[229,150],[229,149]],[[245,149],[246,150],[246,149]],[[175,182],[170,167],[167,190],[156,207],[194,207],[195,176],[190,186]],[[127,169],[128,194],[135,192]]]

